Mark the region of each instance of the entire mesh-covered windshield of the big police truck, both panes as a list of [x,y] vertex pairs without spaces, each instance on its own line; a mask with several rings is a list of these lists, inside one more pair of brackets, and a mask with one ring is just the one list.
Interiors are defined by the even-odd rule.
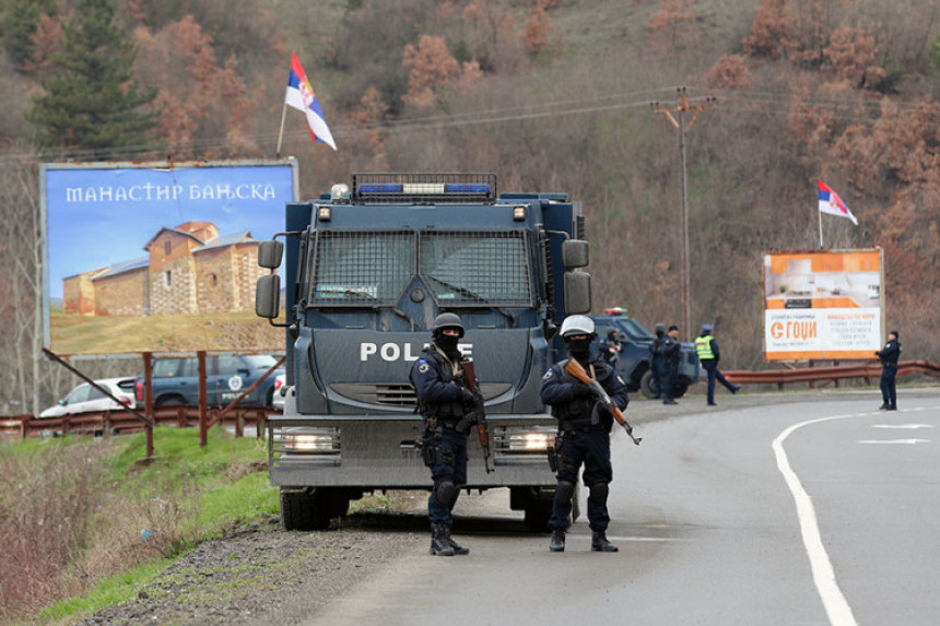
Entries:
[[442,306],[531,306],[525,231],[318,231],[310,306],[393,305],[415,273]]

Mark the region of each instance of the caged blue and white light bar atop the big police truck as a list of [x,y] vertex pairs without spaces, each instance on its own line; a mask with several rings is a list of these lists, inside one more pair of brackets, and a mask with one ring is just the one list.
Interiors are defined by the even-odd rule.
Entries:
[[495,174],[354,174],[353,198],[362,202],[489,202]]

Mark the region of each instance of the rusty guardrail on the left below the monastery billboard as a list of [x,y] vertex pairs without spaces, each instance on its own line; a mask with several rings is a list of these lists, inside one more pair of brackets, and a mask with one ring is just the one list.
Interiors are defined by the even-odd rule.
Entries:
[[[280,414],[280,411],[258,408],[234,408],[224,415],[222,411],[222,409],[210,409],[208,415],[210,423],[219,421],[223,427],[234,428],[236,437],[244,437],[245,428],[254,427],[256,437],[262,438],[268,416]],[[219,415],[222,415],[221,420]],[[153,420],[155,424],[163,426],[198,428],[199,406],[156,409],[153,412]],[[99,411],[51,418],[16,415],[0,418],[0,438],[24,439],[26,437],[66,435],[69,433],[109,437],[111,435],[139,433],[144,427],[143,422],[130,411]]]

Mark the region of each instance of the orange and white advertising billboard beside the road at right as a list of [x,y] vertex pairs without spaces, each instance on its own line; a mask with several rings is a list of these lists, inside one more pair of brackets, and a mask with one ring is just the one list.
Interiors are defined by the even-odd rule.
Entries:
[[874,358],[883,268],[881,248],[764,255],[764,359]]

